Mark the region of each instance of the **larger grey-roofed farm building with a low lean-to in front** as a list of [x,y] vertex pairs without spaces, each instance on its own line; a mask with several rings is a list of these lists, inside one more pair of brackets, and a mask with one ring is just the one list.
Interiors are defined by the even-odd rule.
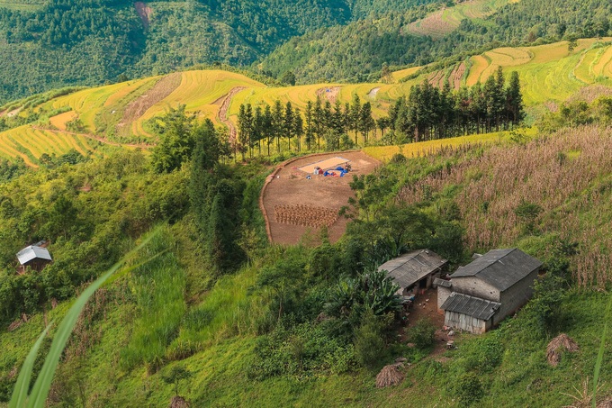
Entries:
[[482,333],[526,304],[542,262],[520,249],[493,249],[450,280],[436,279],[437,307],[445,325]]

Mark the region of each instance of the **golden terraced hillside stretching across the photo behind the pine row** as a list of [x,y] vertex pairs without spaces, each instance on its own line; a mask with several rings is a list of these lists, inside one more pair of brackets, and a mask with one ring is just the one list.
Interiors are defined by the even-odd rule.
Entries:
[[[440,88],[447,80],[459,89],[474,86],[478,81],[484,84],[500,67],[506,77],[512,71],[518,72],[528,119],[533,122],[568,97],[592,101],[598,95],[609,94],[610,40],[579,40],[572,51],[568,50],[567,41],[493,49],[446,68],[400,70],[384,78],[384,82],[266,86],[237,72],[215,69],[63,89],[0,108],[0,157],[21,158],[29,166],[40,166],[42,154],[61,156],[77,150],[85,155],[90,151],[102,155],[103,146],[149,150],[158,141],[152,127],[155,118],[180,104],[200,119],[209,118],[219,125],[237,128],[241,104],[261,107],[278,100],[283,105],[291,103],[304,117],[309,101],[313,103],[318,95],[322,96],[322,104],[329,101],[333,105],[338,101],[341,106],[351,104],[357,95],[362,102],[371,104],[377,120],[388,116],[395,101],[410,95],[410,88],[425,80]],[[221,118],[226,99],[227,110]],[[380,139],[374,138],[372,142],[383,143]]]

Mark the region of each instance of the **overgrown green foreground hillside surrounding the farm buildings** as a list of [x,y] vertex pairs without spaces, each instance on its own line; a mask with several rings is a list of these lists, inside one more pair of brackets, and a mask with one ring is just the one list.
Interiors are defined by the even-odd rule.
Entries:
[[[592,380],[601,322],[610,317],[604,290],[612,279],[610,136],[609,130],[586,126],[531,141],[515,137],[396,158],[365,182],[369,198],[360,209],[378,212],[376,220],[358,217],[343,240],[316,248],[266,243],[256,204],[265,167],[238,165],[222,170],[224,176],[217,168],[213,177],[230,177],[233,183],[221,182],[223,188],[240,197],[232,203],[242,203],[239,211],[226,208],[245,222],[232,231],[254,233],[248,246],[241,244],[249,262],[236,249],[242,266],[234,256],[234,266],[220,270],[211,267],[209,242],[211,233],[222,230],[202,235],[197,207],[184,200],[193,194],[188,180],[194,168],[154,174],[139,152],[125,152],[18,177],[1,186],[2,195],[13,198],[4,198],[0,214],[0,406],[14,384],[15,367],[45,322],[66,312],[62,300],[156,222],[169,225],[131,262],[139,265],[165,252],[95,295],[61,360],[51,406],[163,406],[175,395],[167,378],[177,367],[188,373],[177,383],[178,393],[197,406],[574,403],[572,395],[581,398],[583,382]],[[526,183],[504,177],[509,167]],[[240,180],[250,180],[249,186]],[[542,210],[531,221],[516,211],[524,202]],[[499,246],[518,246],[541,258],[546,276],[534,300],[496,331],[455,337],[458,348],[449,351],[407,346],[397,335],[410,331],[385,326],[389,317],[379,318],[381,325],[357,315],[331,317],[329,302],[341,293],[338,282],[353,285],[348,277],[359,277],[367,262],[383,254],[391,245],[386,234],[403,228],[394,217],[406,211],[410,222],[435,231],[434,238],[419,235],[419,229],[401,235],[407,248],[427,240],[429,248],[461,263],[474,250]],[[14,275],[14,250],[43,236],[51,239],[55,263],[38,275]],[[327,320],[318,318],[323,310]],[[22,311],[28,322],[19,319]],[[11,331],[5,329],[9,322],[17,322]],[[561,364],[551,367],[546,344],[560,332],[580,350],[563,353]],[[376,388],[378,369],[396,357],[411,363],[406,378]],[[605,353],[599,401],[612,394],[610,364]]]

